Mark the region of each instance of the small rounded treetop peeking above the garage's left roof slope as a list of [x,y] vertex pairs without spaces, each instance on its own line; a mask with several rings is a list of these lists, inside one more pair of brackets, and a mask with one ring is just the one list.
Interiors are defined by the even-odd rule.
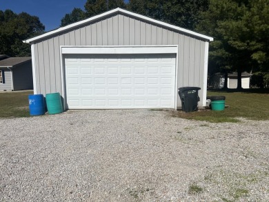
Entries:
[[74,8],[70,14],[66,14],[61,19],[61,27],[67,26],[71,23],[81,21],[86,18],[86,13],[80,8]]

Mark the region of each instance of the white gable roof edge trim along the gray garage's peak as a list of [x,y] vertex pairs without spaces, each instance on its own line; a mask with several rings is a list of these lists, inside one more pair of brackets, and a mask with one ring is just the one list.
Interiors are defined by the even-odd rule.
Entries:
[[113,10],[109,10],[108,12],[104,12],[104,13],[98,14],[98,15],[96,15],[94,17],[90,17],[88,19],[85,19],[83,21],[78,21],[76,23],[72,23],[72,24],[70,24],[68,26],[65,26],[65,27],[62,27],[62,28],[58,28],[57,30],[52,30],[50,32],[47,32],[45,34],[41,34],[41,35],[39,35],[37,37],[33,37],[31,39],[26,39],[23,42],[24,43],[32,43],[34,41],[37,41],[37,40],[40,40],[40,39],[43,39],[43,38],[46,38],[46,37],[50,37],[50,36],[52,36],[54,34],[57,34],[59,32],[66,32],[68,30],[71,30],[72,28],[76,28],[78,26],[83,26],[86,23],[90,23],[92,21],[97,21],[98,19],[102,19],[103,17],[106,17],[106,16],[108,16],[110,14],[117,14],[117,13],[118,14],[126,14],[126,15],[129,15],[130,17],[135,17],[135,18],[143,19],[144,21],[148,21],[150,23],[155,23],[155,24],[157,24],[159,26],[163,26],[163,27],[166,27],[166,28],[170,28],[172,30],[177,30],[177,31],[180,31],[180,32],[183,32],[183,33],[186,33],[186,34],[190,34],[190,35],[192,35],[194,37],[199,37],[201,39],[206,39],[208,41],[213,41],[213,38],[212,37],[208,37],[208,36],[206,36],[204,34],[199,34],[197,32],[193,32],[191,30],[187,30],[187,29],[180,28],[180,27],[177,27],[177,26],[172,26],[169,23],[164,23],[162,21],[157,21],[157,20],[152,19],[150,17],[146,17],[146,16],[143,16],[141,14],[137,14],[135,12],[130,12],[128,10],[123,10],[121,8],[115,8]]

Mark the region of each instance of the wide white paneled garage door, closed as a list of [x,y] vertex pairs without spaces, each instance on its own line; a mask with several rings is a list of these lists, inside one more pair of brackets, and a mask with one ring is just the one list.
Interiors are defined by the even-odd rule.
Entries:
[[175,54],[66,54],[67,108],[175,108],[175,67]]

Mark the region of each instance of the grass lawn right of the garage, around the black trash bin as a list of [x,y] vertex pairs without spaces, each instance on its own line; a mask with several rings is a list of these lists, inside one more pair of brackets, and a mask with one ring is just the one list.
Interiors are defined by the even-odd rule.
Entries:
[[238,122],[235,117],[252,120],[269,120],[268,90],[246,90],[244,92],[210,91],[208,96],[224,95],[226,105],[223,111],[199,110],[198,112],[175,112],[174,116],[210,122]]

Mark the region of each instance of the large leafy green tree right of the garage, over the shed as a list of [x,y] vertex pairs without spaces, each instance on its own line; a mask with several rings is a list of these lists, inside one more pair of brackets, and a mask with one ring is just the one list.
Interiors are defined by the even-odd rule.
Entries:
[[210,0],[200,17],[197,30],[215,38],[210,43],[211,72],[221,70],[227,75],[237,70],[239,90],[241,72],[268,72],[267,0]]

